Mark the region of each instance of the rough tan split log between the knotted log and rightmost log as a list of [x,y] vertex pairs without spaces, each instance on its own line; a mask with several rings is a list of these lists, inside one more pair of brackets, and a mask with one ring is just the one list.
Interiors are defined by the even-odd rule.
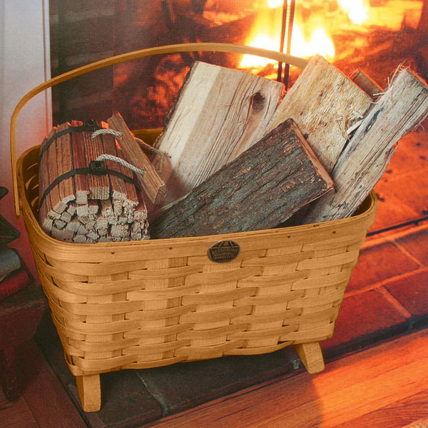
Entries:
[[365,115],[371,103],[371,96],[316,55],[282,99],[268,129],[294,119],[330,172],[347,143],[347,130]]

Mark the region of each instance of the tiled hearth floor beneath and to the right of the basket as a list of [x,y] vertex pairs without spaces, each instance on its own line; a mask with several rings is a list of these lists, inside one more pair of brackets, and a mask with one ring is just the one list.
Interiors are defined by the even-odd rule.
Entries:
[[[425,128],[428,129],[427,124]],[[428,325],[428,131],[400,141],[375,190],[370,229],[336,322],[322,342],[327,362]],[[85,414],[48,316],[36,341],[91,428],[136,428],[282,374],[300,372],[292,347],[267,355],[223,357],[101,375],[100,412]]]

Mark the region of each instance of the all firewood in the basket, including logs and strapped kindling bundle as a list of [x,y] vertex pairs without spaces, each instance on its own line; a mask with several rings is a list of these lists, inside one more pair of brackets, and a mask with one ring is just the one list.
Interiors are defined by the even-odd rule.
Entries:
[[[99,242],[148,238],[147,212],[153,238],[347,217],[399,139],[428,115],[427,83],[408,68],[383,90],[362,71],[348,78],[315,56],[279,102],[282,91],[282,83],[196,61],[151,161],[120,115],[101,124],[115,135],[58,126],[41,148],[40,170],[49,171],[40,176],[42,227],[61,240]],[[66,175],[52,187],[101,154],[144,173],[106,160],[107,175]]]

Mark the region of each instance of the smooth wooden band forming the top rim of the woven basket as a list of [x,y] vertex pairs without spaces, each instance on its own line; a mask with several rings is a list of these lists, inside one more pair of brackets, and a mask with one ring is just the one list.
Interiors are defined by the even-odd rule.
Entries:
[[[105,261],[105,254],[117,254],[121,250],[135,248],[137,245],[139,248],[165,248],[173,247],[174,245],[186,244],[200,244],[206,243],[206,245],[211,245],[219,240],[240,240],[240,238],[253,238],[257,239],[259,237],[266,237],[285,234],[300,234],[308,233],[310,230],[324,230],[331,228],[344,228],[349,227],[350,225],[362,225],[363,223],[368,223],[367,228],[374,223],[375,214],[377,211],[377,196],[374,190],[370,192],[370,195],[367,196],[365,201],[362,204],[367,205],[364,207],[362,213],[353,215],[346,218],[339,218],[337,220],[327,220],[320,223],[312,223],[308,225],[297,225],[297,226],[288,226],[285,228],[274,228],[274,229],[262,229],[262,230],[250,230],[245,232],[235,232],[235,233],[224,233],[218,235],[200,235],[200,236],[190,236],[184,238],[162,238],[162,239],[153,239],[153,240],[134,240],[134,241],[118,241],[118,242],[109,242],[109,243],[67,243],[55,238],[51,238],[47,235],[44,230],[41,229],[39,222],[36,220],[33,211],[29,205],[29,201],[26,198],[24,179],[22,176],[22,168],[24,159],[32,151],[39,150],[40,146],[34,146],[21,154],[17,161],[17,176],[18,176],[18,188],[19,196],[22,204],[22,212],[24,214],[24,221],[26,224],[27,231],[31,235],[32,241],[37,248],[41,249],[44,253],[54,254],[56,260],[69,260],[70,256],[73,255],[73,258],[78,258],[78,255],[81,255],[81,260],[86,261],[88,257],[88,252],[85,250],[91,249],[96,250],[96,252],[91,251],[91,257],[94,257],[96,260],[96,254],[98,251],[102,253],[102,258],[99,260]],[[368,200],[368,203],[367,203]],[[334,237],[332,237],[334,238]],[[113,251],[112,251],[113,250]],[[100,254],[101,256],[101,254]],[[92,261],[92,260],[91,260]]]

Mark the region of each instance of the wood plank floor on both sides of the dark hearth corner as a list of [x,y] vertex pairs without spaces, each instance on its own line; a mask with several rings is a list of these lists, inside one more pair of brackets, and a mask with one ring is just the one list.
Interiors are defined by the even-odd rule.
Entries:
[[[19,362],[24,394],[0,393],[0,428],[84,428],[66,392],[30,343]],[[280,377],[161,419],[156,428],[428,427],[428,330],[327,364],[320,374]]]

